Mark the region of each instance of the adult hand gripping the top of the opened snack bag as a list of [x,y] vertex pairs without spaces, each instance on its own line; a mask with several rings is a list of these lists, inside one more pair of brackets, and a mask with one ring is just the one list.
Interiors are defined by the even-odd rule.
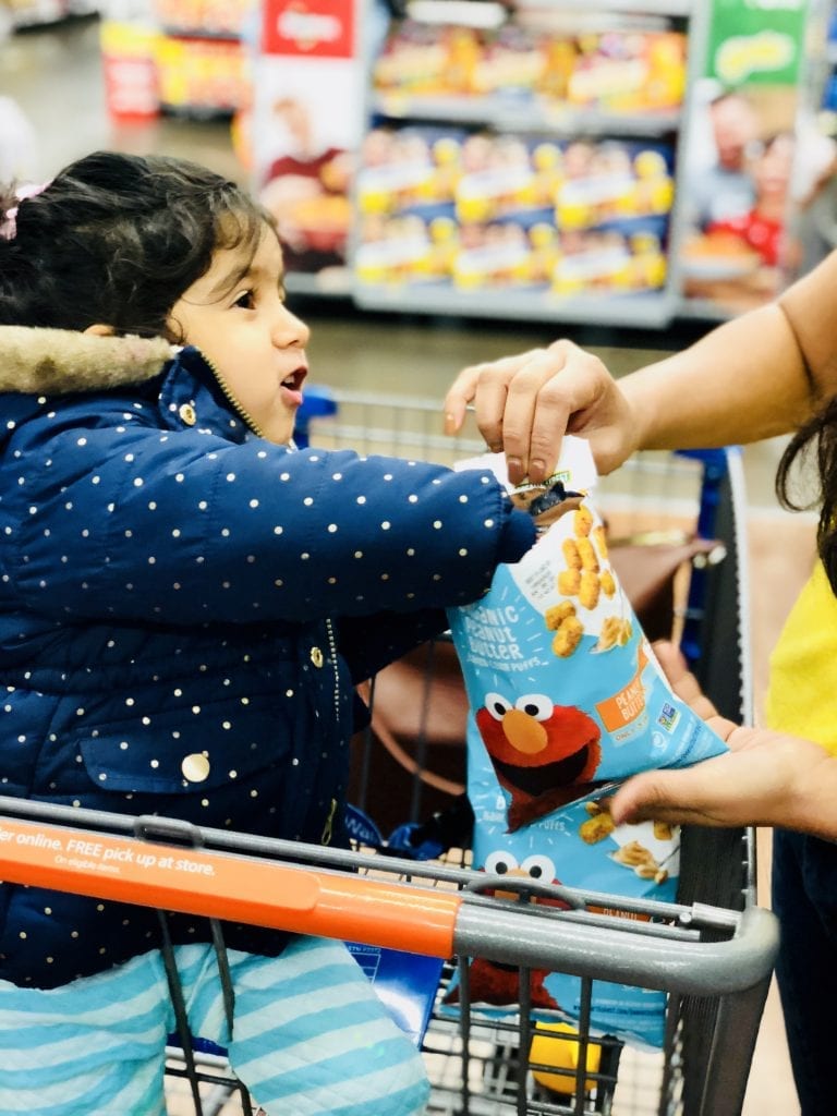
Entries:
[[473,404],[485,444],[503,452],[509,480],[555,472],[565,433],[588,437],[600,473],[636,449],[631,406],[605,365],[568,340],[463,368],[444,401],[445,431]]

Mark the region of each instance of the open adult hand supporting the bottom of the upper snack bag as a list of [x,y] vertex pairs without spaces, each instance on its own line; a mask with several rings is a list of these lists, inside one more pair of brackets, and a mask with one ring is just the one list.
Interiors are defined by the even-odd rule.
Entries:
[[809,740],[720,716],[676,648],[654,650],[675,693],[730,751],[691,768],[634,776],[612,799],[614,820],[781,826],[837,838],[837,757]]

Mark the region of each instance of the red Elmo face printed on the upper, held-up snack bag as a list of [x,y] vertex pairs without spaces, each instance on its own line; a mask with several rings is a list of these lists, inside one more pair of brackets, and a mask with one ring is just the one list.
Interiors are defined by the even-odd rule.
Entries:
[[511,795],[509,831],[571,801],[602,759],[596,722],[545,694],[527,694],[513,706],[501,694],[487,694],[475,720],[500,786]]

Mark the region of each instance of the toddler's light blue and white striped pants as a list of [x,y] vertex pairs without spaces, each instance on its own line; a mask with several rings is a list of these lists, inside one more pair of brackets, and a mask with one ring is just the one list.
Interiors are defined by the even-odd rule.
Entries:
[[[424,1112],[421,1055],[340,942],[294,939],[279,958],[230,950],[232,1038],[212,946],[175,954],[192,1033],[228,1048],[271,1116]],[[157,951],[57,989],[0,981],[0,1114],[163,1116],[174,1026]]]

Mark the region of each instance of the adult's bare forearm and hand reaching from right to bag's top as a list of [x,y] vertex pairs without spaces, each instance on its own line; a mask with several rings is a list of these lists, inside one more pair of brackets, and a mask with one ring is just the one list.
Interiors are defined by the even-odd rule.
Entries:
[[787,433],[837,391],[836,318],[837,251],[777,301],[618,382],[568,340],[465,368],[445,398],[446,429],[472,404],[516,482],[552,472],[564,433],[589,439],[603,473],[635,450]]

